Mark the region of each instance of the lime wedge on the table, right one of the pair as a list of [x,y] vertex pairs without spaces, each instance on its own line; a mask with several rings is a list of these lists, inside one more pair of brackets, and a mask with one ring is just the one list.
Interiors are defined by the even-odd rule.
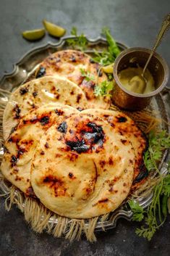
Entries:
[[48,22],[47,20],[43,20],[43,25],[46,28],[48,34],[50,34],[51,36],[61,37],[64,36],[64,33],[66,33],[66,30],[64,28]]

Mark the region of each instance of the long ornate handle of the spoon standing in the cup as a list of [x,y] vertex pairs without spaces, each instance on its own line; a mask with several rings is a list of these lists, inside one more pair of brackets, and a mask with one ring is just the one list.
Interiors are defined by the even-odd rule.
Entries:
[[153,57],[154,51],[156,51],[156,48],[161,44],[162,38],[165,35],[165,33],[169,30],[170,27],[170,13],[164,17],[161,29],[159,30],[158,36],[156,38],[156,43],[153,46],[153,49],[150,52],[150,56],[148,57],[148,60],[145,64],[145,67],[143,69],[143,75],[145,73],[146,67],[148,66],[148,63],[150,62],[151,57]]

